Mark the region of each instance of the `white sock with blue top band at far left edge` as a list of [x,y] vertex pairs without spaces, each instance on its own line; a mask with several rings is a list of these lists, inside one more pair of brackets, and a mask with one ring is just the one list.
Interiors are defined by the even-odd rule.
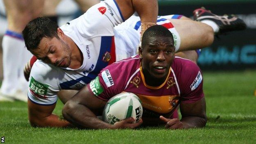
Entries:
[[21,50],[25,43],[22,34],[7,30],[2,39],[3,49],[3,81],[0,92],[12,95],[16,92],[18,84]]

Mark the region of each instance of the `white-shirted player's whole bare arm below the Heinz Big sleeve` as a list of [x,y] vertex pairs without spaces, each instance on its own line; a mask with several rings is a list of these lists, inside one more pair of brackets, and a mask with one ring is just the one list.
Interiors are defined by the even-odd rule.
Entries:
[[34,127],[68,127],[72,126],[68,121],[60,120],[59,116],[52,114],[55,105],[44,106],[34,104],[32,101],[27,101],[28,118],[31,126]]

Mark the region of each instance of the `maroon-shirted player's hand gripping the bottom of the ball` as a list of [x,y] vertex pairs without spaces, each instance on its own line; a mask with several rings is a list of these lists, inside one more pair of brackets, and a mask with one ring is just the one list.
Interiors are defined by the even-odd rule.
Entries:
[[133,123],[134,121],[135,119],[133,119],[132,117],[123,119],[122,121],[114,123],[113,128],[137,128],[143,123],[142,119],[140,119],[137,123]]

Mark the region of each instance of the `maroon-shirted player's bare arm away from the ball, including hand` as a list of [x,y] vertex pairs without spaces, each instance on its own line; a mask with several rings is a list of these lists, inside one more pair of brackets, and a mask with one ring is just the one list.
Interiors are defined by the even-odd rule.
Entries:
[[167,119],[160,116],[162,121],[166,122],[165,128],[201,128],[206,125],[206,102],[205,98],[194,103],[182,103],[180,105],[182,119]]

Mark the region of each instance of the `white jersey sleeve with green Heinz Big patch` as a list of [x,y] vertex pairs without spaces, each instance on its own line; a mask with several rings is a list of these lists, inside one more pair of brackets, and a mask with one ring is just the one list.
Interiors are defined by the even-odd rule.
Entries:
[[57,71],[37,60],[29,79],[28,98],[37,105],[53,105],[57,102]]

